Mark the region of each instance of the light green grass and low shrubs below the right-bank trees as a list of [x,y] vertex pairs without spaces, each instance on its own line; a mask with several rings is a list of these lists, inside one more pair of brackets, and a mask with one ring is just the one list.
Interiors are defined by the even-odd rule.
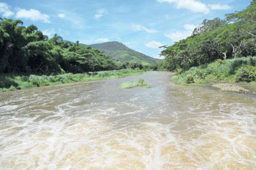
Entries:
[[256,81],[256,57],[216,60],[210,64],[192,67],[179,72],[172,79],[181,85],[208,85],[210,83],[232,83],[251,86]]

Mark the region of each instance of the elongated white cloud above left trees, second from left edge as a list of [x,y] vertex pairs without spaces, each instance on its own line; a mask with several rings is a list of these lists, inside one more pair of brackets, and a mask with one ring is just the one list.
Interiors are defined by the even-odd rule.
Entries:
[[49,15],[42,14],[39,10],[36,9],[18,9],[15,17],[31,19],[32,21],[43,21],[44,23],[50,23]]

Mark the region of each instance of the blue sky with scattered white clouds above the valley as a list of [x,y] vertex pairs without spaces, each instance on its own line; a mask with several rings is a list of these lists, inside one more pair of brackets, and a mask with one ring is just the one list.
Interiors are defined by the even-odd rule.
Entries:
[[251,0],[0,0],[0,17],[43,34],[95,44],[119,41],[154,58],[159,46],[191,35],[203,19],[225,18]]

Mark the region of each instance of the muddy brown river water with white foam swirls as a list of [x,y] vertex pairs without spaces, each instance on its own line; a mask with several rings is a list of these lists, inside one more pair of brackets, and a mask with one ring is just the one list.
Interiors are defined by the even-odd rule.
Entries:
[[255,170],[256,96],[169,75],[0,93],[0,170]]

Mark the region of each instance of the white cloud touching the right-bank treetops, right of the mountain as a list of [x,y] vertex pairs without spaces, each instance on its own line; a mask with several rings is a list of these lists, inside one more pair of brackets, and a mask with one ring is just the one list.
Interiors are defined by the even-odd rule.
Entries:
[[170,38],[174,42],[177,42],[179,40],[182,40],[191,36],[194,28],[196,28],[196,25],[185,24],[184,28],[185,28],[185,31],[169,32],[169,33],[165,33],[164,36]]

